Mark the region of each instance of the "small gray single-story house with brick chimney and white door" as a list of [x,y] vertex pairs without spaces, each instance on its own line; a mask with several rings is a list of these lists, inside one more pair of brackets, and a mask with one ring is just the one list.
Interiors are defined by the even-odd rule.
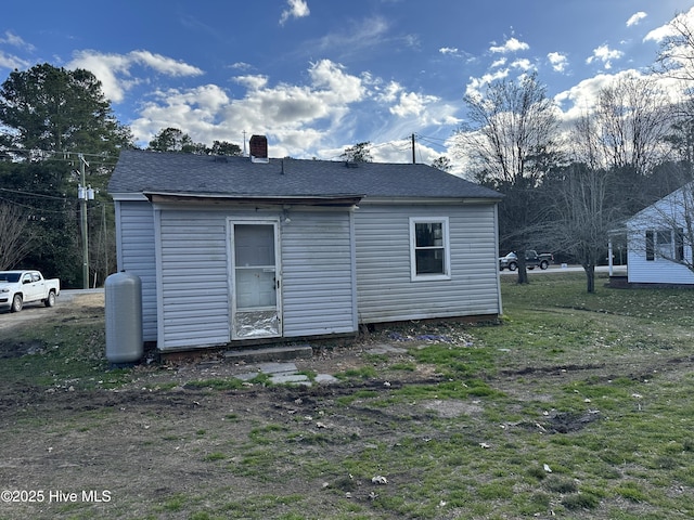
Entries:
[[424,165],[124,151],[118,270],[160,351],[501,313],[498,193]]

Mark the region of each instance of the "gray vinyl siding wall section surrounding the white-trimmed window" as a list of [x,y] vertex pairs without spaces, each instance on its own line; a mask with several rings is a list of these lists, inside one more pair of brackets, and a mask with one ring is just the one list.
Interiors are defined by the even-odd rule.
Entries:
[[[494,216],[491,204],[361,204],[355,212],[360,322],[501,313]],[[410,217],[448,217],[450,280],[411,280]]]

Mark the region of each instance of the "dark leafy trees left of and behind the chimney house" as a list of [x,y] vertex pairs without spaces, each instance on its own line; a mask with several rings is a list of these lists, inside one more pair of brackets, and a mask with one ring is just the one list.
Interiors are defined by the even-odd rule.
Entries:
[[[48,63],[14,70],[0,87],[0,269],[30,266],[81,287],[80,168],[94,193],[89,202],[89,285],[116,269],[113,203],[106,185],[120,150],[134,148],[100,81],[83,69]],[[195,143],[162,129],[146,150],[241,155],[237,144]]]

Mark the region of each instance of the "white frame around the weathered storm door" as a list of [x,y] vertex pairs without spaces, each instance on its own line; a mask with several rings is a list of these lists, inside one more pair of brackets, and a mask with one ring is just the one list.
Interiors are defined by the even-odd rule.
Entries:
[[[278,314],[278,334],[264,335],[257,337],[237,336],[236,328],[234,326],[234,320],[236,316],[236,261],[235,261],[235,235],[234,225],[272,225],[274,234],[274,277],[275,277],[275,306]],[[228,259],[228,291],[230,296],[230,315],[229,315],[229,330],[232,340],[241,339],[262,339],[262,338],[278,338],[283,335],[283,316],[282,316],[282,255],[280,249],[280,219],[279,218],[257,218],[257,217],[228,217],[227,218],[227,259]]]

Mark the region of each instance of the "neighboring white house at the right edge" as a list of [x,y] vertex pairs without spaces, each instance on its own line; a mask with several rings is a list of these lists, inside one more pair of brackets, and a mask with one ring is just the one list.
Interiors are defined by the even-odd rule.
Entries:
[[693,188],[693,184],[686,184],[627,221],[630,284],[694,284],[694,272],[690,269]]

